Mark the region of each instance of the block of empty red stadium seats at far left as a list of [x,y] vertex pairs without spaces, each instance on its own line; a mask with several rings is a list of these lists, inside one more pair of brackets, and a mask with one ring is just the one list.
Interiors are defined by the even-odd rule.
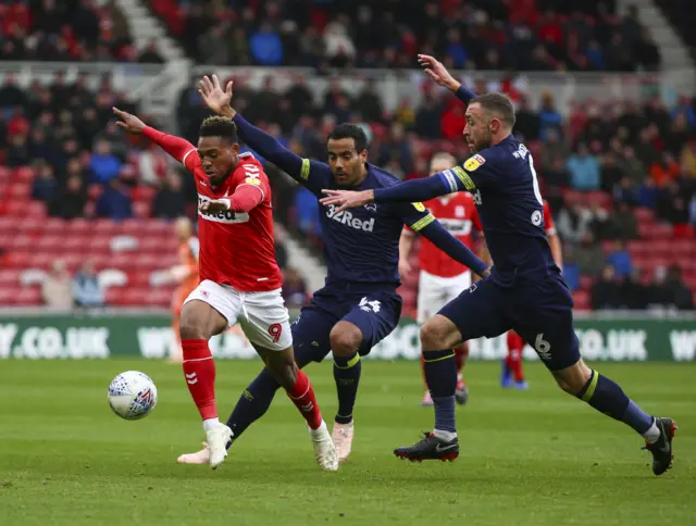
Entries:
[[[0,216],[0,247],[4,250],[0,270],[0,300],[8,305],[38,305],[41,303],[40,283],[23,286],[27,270],[48,271],[55,260],[63,260],[74,273],[90,259],[97,271],[123,271],[126,280],[107,288],[110,305],[169,306],[171,286],[152,287],[150,275],[177,264],[178,240],[172,224],[148,218],[123,222],[76,218],[65,221],[48,217],[46,205],[33,201],[26,191],[32,168],[3,170],[3,188],[13,196]],[[90,189],[90,200],[100,191]],[[153,191],[140,187],[134,191],[135,203],[150,206]],[[114,239],[122,239],[114,243]],[[133,242],[124,243],[123,239]],[[115,245],[115,246],[114,246]],[[129,247],[119,250],[119,245]]]

